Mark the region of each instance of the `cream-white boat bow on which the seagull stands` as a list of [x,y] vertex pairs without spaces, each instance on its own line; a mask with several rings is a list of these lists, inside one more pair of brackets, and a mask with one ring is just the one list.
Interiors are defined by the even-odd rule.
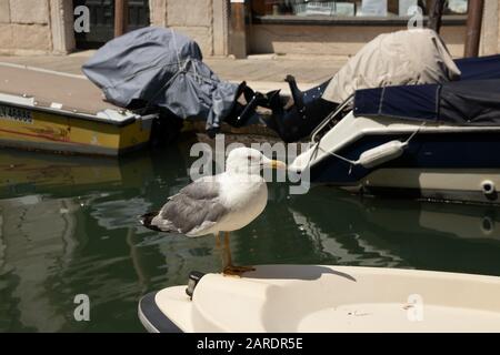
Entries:
[[204,275],[192,301],[183,286],[146,298],[139,316],[151,332],[500,332],[500,277],[493,276],[259,266],[243,278]]

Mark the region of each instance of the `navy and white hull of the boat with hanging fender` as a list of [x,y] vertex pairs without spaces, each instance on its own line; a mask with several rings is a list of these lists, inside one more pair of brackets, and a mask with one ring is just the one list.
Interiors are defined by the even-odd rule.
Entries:
[[[388,150],[380,150],[388,142],[406,148],[391,156]],[[354,118],[350,113],[289,169],[309,170],[312,183],[354,191],[500,203],[499,148],[498,126],[422,125],[392,118]],[[379,156],[380,164],[363,165],[367,152],[388,156]]]

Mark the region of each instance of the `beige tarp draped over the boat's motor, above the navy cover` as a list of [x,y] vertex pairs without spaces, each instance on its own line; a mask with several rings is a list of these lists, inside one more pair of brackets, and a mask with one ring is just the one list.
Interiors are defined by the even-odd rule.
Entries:
[[378,36],[333,77],[323,99],[341,103],[360,89],[443,83],[460,70],[438,33],[412,29]]

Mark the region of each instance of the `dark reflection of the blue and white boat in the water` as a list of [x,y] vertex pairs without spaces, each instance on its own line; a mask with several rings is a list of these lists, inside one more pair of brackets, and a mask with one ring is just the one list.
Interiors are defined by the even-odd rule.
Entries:
[[498,206],[361,199],[319,187],[289,210],[339,264],[500,275]]

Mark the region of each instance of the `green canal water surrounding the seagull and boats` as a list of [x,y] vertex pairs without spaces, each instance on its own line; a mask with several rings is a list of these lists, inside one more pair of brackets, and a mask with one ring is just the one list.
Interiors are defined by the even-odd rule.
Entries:
[[[189,182],[189,146],[119,162],[0,150],[0,332],[142,332],[141,295],[218,272],[213,237],[166,237],[137,216]],[[341,264],[500,275],[500,210],[362,199],[332,187],[289,196],[232,234],[238,264]],[[90,297],[90,322],[73,318]]]

